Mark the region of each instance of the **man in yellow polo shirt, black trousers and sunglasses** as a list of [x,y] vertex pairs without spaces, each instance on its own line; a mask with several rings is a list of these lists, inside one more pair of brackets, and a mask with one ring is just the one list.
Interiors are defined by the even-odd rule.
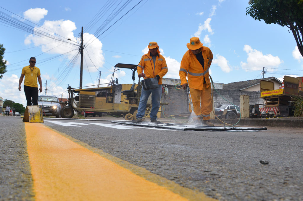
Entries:
[[19,79],[19,91],[21,91],[21,83],[24,79],[24,93],[26,97],[27,104],[26,105],[32,105],[32,99],[33,99],[33,105],[38,105],[38,84],[37,84],[37,78],[40,84],[40,93],[42,92],[42,80],[40,76],[40,69],[35,66],[36,64],[36,58],[31,57],[29,59],[29,66],[25,66],[22,69],[22,73]]

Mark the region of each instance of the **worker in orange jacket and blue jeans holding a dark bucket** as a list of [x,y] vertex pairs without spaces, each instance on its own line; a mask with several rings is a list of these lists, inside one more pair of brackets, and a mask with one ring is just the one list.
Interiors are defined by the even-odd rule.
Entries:
[[137,122],[141,122],[145,115],[146,104],[151,94],[152,108],[149,114],[151,122],[161,123],[157,121],[157,113],[160,108],[162,95],[162,77],[167,73],[167,65],[165,58],[160,54],[158,43],[150,42],[148,45],[148,53],[143,55],[137,66],[138,77],[158,79],[158,86],[153,89],[144,90],[142,87],[138,113],[136,115]]

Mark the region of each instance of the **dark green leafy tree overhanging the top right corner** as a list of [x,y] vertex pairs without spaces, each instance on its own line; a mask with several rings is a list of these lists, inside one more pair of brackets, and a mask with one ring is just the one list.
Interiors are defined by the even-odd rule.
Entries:
[[287,26],[295,37],[299,52],[303,56],[303,0],[250,0],[246,15],[266,24]]

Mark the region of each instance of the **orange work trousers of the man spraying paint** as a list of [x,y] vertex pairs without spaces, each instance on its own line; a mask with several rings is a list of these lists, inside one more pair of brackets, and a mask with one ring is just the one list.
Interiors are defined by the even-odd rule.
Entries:
[[211,87],[207,89],[206,84],[203,84],[203,90],[191,88],[190,95],[195,114],[197,116],[201,115],[203,120],[209,120],[212,109]]

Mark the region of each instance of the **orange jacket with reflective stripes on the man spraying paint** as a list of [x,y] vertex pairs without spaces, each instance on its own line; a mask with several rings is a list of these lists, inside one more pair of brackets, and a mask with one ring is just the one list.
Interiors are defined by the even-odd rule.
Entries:
[[197,60],[195,54],[189,49],[181,60],[181,66],[179,70],[179,76],[181,79],[181,85],[187,83],[186,76],[188,78],[188,87],[202,90],[203,89],[203,77],[206,81],[206,88],[210,86],[210,79],[208,69],[211,65],[213,55],[208,47],[202,46],[202,56],[204,59],[204,69],[201,63]]

